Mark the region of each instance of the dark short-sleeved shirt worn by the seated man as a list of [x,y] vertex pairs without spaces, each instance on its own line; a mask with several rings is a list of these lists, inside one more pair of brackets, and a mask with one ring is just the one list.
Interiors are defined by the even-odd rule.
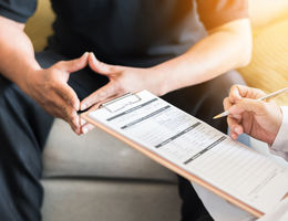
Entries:
[[[49,46],[70,57],[93,51],[104,62],[150,66],[187,51],[213,29],[248,17],[247,0],[51,0]],[[0,14],[25,22],[37,0],[0,0]]]

